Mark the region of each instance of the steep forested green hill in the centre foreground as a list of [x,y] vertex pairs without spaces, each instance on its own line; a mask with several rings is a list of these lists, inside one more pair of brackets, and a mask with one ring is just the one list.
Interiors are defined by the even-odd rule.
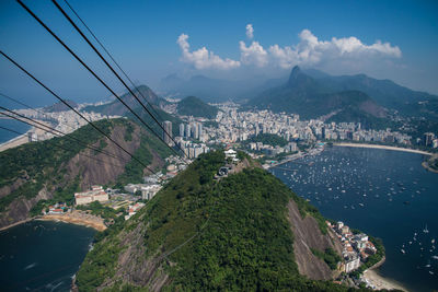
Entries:
[[[318,210],[249,159],[215,180],[223,161],[222,151],[203,154],[99,236],[77,273],[79,291],[348,291],[313,255],[333,254],[337,241]],[[325,280],[300,275],[302,260]]]

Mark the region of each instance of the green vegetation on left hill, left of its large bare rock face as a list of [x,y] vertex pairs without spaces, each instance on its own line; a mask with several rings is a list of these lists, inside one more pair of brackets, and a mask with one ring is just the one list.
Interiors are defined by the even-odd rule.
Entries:
[[[110,133],[114,127],[114,124],[108,120],[101,120],[97,125],[106,133]],[[81,141],[88,141],[90,144],[103,137],[91,126],[84,126],[70,136]],[[0,199],[0,212],[19,197],[27,199],[36,197],[45,184],[57,185],[66,174],[66,170],[61,170],[61,165],[84,149],[85,145],[61,137],[43,142],[26,143],[1,152],[0,187],[12,185],[18,179],[26,182],[16,190]],[[69,184],[56,190],[55,197],[64,199],[66,195],[64,189],[76,190],[76,185],[77,182],[69,182]]]

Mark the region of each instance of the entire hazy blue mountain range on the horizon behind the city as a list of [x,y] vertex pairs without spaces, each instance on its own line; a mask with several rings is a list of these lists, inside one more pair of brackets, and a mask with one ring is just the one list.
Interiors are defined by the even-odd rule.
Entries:
[[168,93],[196,95],[206,102],[233,100],[249,107],[283,109],[304,118],[337,113],[333,120],[382,125],[390,110],[438,121],[438,96],[366,74],[330,75],[299,67],[295,67],[288,78],[258,77],[243,81],[204,75],[183,80],[172,74],[162,80],[160,89]]

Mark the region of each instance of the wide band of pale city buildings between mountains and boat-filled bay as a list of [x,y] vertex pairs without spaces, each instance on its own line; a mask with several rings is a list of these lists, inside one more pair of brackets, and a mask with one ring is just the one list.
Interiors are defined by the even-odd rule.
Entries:
[[258,133],[274,133],[287,141],[354,140],[411,144],[411,136],[399,131],[367,130],[360,122],[330,122],[322,119],[300,120],[299,115],[270,110],[238,110],[233,103],[217,105],[217,128],[205,128],[207,141],[232,143]]

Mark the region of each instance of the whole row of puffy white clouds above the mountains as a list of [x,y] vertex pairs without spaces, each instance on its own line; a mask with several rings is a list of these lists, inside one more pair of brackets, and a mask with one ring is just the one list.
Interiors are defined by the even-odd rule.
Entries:
[[[252,24],[246,25],[246,36],[250,39],[254,37]],[[242,65],[289,69],[300,65],[359,70],[367,66],[381,65],[388,59],[402,57],[400,48],[390,43],[377,40],[374,44],[366,45],[355,36],[320,40],[309,30],[301,31],[298,44],[291,46],[280,47],[275,44],[265,49],[258,42],[252,40],[251,45],[246,46],[241,40],[239,42],[240,61],[222,59],[206,47],[191,51],[187,39],[186,34],[181,34],[176,42],[182,50],[180,60],[193,65],[196,69],[228,70]]]

